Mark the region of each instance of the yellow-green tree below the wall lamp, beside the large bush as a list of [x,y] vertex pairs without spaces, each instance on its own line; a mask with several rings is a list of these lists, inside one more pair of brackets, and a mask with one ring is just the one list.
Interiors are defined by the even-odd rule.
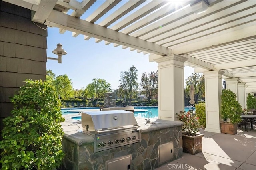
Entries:
[[54,81],[54,87],[56,89],[56,93],[60,95],[62,99],[70,99],[74,97],[74,91],[71,79],[65,75],[58,75],[56,80]]

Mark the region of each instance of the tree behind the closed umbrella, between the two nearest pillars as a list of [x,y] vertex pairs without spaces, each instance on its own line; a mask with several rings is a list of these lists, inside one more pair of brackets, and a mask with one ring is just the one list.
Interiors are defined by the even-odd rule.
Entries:
[[204,75],[198,74],[198,73],[192,73],[187,79],[186,79],[186,88],[185,93],[186,96],[189,96],[189,88],[190,85],[193,84],[195,87],[195,95],[194,98],[196,99],[195,102],[198,103],[198,98],[204,97]]

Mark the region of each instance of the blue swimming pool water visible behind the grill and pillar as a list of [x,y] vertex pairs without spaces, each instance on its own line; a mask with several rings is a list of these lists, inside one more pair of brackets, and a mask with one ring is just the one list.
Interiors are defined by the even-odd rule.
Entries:
[[[75,111],[76,109],[100,109],[100,107],[88,107],[88,108],[68,108],[68,109],[61,109],[63,115],[67,115],[70,113],[78,113]],[[134,109],[143,109],[147,111],[135,111],[134,116],[135,117],[141,117],[141,118],[158,118],[158,107],[134,107]],[[190,107],[185,107],[184,111],[189,111]],[[74,111],[72,111],[74,110]],[[149,114],[148,114],[149,113]],[[72,117],[72,119],[75,120],[81,120],[81,116],[75,116]]]

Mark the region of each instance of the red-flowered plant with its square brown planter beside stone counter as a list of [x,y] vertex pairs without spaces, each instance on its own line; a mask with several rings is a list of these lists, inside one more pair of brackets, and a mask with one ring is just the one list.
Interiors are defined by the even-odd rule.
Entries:
[[195,114],[185,111],[176,113],[177,119],[182,121],[182,147],[183,152],[188,152],[192,155],[202,152],[202,137],[204,134],[197,134],[200,123]]

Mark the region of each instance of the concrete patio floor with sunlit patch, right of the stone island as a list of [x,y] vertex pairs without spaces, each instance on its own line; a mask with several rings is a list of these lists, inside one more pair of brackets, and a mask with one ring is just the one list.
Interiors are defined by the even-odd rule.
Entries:
[[[244,129],[242,129],[244,130]],[[202,152],[168,162],[156,170],[256,170],[256,126],[235,135],[205,132]]]

